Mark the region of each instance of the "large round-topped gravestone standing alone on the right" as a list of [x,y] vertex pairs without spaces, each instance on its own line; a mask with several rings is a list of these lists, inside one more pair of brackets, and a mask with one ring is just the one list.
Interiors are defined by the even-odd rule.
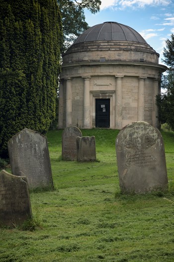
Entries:
[[168,188],[164,142],[158,129],[146,122],[127,125],[116,138],[116,155],[122,192]]

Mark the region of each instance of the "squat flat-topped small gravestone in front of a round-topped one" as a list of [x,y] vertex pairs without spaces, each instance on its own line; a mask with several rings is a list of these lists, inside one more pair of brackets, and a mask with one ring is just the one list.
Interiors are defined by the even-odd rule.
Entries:
[[96,161],[95,136],[78,136],[76,143],[79,162]]

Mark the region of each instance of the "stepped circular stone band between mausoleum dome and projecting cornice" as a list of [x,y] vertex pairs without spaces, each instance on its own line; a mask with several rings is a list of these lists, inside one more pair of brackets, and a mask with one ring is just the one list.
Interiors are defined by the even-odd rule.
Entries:
[[72,45],[63,55],[64,63],[81,61],[140,61],[157,63],[159,54],[145,43],[133,41],[95,41]]

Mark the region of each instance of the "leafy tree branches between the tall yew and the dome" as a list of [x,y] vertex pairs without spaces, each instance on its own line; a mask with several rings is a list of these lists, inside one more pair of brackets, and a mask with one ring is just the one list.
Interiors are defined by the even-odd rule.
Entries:
[[100,9],[100,0],[57,0],[61,15],[64,32],[64,52],[75,39],[83,33],[88,24],[85,21],[84,9],[96,13]]

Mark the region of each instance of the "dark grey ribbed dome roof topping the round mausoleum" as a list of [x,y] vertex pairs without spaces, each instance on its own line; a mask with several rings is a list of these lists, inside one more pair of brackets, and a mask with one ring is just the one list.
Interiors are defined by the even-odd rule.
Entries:
[[117,22],[104,22],[89,27],[74,44],[89,41],[135,41],[146,43],[145,39],[133,28]]

